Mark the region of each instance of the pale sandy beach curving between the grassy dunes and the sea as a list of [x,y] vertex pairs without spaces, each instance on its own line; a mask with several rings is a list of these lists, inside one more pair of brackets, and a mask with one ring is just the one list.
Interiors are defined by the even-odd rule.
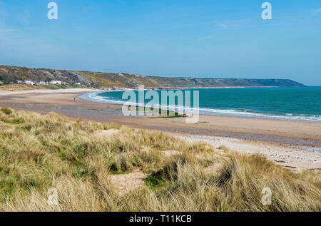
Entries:
[[321,123],[215,115],[200,115],[197,124],[186,124],[185,118],[126,118],[121,106],[78,98],[91,91],[0,92],[0,107],[163,130],[179,138],[210,143],[215,148],[223,145],[231,151],[259,153],[291,170],[321,168]]

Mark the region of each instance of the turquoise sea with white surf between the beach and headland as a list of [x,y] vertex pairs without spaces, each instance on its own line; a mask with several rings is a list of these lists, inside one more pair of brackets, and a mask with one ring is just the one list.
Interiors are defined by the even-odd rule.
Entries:
[[[208,88],[190,91],[199,91],[201,114],[321,122],[321,87]],[[161,91],[158,93],[161,96]],[[122,95],[123,91],[87,93],[81,98],[123,104],[127,100],[122,100]]]

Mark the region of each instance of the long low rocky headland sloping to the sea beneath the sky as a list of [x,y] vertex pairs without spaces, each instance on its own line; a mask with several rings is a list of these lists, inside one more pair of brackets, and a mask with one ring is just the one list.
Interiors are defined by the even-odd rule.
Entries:
[[31,81],[64,81],[66,83],[82,83],[86,86],[126,86],[146,87],[179,86],[305,86],[288,79],[243,79],[243,78],[165,78],[156,76],[142,76],[128,73],[101,73],[90,71],[66,71],[54,69],[34,69],[16,66],[0,66],[0,81],[16,83],[17,80]]

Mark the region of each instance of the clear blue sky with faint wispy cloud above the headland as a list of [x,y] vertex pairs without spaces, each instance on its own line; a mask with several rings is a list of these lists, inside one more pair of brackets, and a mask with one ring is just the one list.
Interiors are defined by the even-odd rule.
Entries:
[[320,0],[51,1],[0,0],[0,64],[321,86]]

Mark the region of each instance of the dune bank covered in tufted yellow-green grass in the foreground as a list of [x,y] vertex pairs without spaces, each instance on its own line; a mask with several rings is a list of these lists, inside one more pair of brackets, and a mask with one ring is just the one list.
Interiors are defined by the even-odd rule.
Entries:
[[[95,135],[106,130],[118,133]],[[161,132],[2,109],[0,210],[321,210],[320,171],[292,173],[259,155],[221,149]],[[143,185],[116,192],[111,177],[137,171],[146,175]],[[51,187],[58,205],[47,202]],[[263,188],[272,191],[272,205],[261,203]]]

